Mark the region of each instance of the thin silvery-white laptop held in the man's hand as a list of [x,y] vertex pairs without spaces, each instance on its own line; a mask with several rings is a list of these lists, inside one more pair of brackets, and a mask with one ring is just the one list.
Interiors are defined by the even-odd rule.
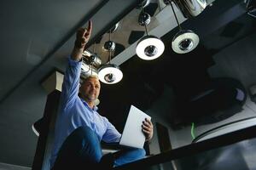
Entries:
[[119,142],[120,145],[143,148],[145,135],[142,131],[142,125],[145,118],[151,120],[151,116],[148,116],[134,105],[131,105],[129,115],[125,122],[125,128]]

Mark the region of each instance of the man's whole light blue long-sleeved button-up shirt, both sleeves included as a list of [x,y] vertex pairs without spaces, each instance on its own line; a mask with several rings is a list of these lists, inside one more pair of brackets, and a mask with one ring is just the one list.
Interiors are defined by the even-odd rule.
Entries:
[[50,167],[53,167],[58,151],[67,136],[78,127],[90,127],[98,139],[108,143],[119,142],[121,134],[108,119],[99,115],[97,107],[93,109],[79,98],[79,79],[82,62],[68,59],[67,70],[64,76],[58,116],[55,122],[55,139],[50,158]]

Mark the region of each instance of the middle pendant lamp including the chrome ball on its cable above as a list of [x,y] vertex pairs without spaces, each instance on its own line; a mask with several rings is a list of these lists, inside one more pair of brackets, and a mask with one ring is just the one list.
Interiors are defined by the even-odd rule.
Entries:
[[146,36],[144,36],[136,47],[136,54],[139,58],[152,60],[160,57],[165,51],[165,44],[160,38],[148,35],[147,26],[150,22],[150,15],[144,13],[142,5],[142,13],[139,15],[138,23],[140,26],[145,26]]

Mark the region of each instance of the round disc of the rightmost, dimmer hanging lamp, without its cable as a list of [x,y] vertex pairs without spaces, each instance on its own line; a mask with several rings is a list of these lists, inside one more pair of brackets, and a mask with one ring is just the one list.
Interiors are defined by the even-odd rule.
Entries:
[[190,30],[179,31],[172,39],[172,49],[177,54],[189,53],[199,43],[199,37]]

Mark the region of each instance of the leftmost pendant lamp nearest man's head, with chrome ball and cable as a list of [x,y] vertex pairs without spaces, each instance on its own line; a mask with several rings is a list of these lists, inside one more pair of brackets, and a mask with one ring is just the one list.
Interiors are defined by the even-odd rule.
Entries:
[[[109,31],[109,41],[111,42],[111,31]],[[105,43],[106,44],[106,43]],[[110,63],[111,61],[111,52],[113,52],[114,48],[107,48],[109,52],[109,61],[108,64],[102,65],[102,67],[98,71],[98,77],[101,82],[107,84],[114,84],[123,78],[123,72],[120,71],[118,65],[113,65]]]

